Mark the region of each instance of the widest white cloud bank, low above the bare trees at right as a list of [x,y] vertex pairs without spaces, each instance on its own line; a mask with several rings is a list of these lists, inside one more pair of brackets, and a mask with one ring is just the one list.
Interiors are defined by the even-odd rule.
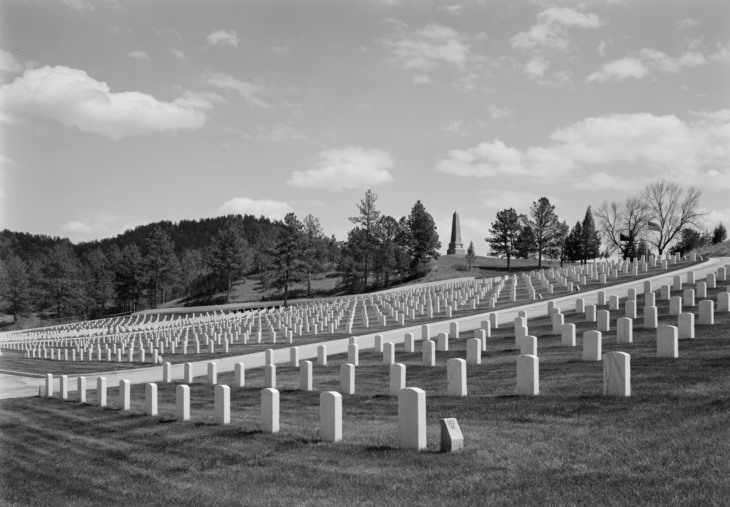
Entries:
[[590,117],[557,129],[549,139],[546,146],[523,150],[497,139],[451,150],[436,170],[464,177],[529,176],[545,182],[571,178],[581,188],[590,183],[626,188],[619,180],[635,182],[642,176],[730,188],[727,109],[695,113],[689,121],[649,113]]

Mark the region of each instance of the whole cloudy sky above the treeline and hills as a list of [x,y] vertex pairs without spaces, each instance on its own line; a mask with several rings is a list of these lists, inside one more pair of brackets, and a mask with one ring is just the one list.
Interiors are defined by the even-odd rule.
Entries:
[[0,229],[313,214],[367,189],[487,254],[661,178],[730,225],[725,0],[0,0]]

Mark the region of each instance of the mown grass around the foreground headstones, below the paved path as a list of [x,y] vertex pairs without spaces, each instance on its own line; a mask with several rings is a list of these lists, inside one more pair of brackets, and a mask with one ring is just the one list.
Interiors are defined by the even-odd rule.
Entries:
[[[724,290],[725,285],[723,284]],[[710,296],[718,290],[710,291]],[[639,307],[643,307],[640,298]],[[660,324],[676,324],[659,302]],[[696,308],[694,308],[696,312]],[[622,312],[612,312],[612,322]],[[641,315],[641,310],[640,310]],[[144,386],[130,413],[29,398],[0,405],[0,502],[18,505],[727,505],[730,498],[730,314],[697,326],[678,359],[657,359],[655,333],[637,322],[634,343],[604,333],[604,353],[631,354],[632,397],[602,396],[600,362],[560,346],[547,319],[538,337],[540,396],[514,396],[511,325],[488,340],[483,364],[468,368],[469,396],[446,396],[437,367],[397,347],[407,383],[427,392],[428,452],[398,450],[397,403],[388,368],[361,354],[356,394],[344,396],[344,440],[319,441],[318,397],[337,390],[339,364],[314,367],[315,392],[297,390],[298,370],[280,366],[281,432],[260,432],[263,375],[231,391],[231,424],[213,424],[213,388],[191,386],[191,422],[174,420],[175,384],[159,384],[160,416],[143,416]],[[470,333],[469,333],[470,334]],[[464,333],[461,338],[466,338]],[[219,382],[232,384],[231,374]],[[89,391],[93,403],[93,390]],[[456,417],[462,454],[438,452],[438,420]]]

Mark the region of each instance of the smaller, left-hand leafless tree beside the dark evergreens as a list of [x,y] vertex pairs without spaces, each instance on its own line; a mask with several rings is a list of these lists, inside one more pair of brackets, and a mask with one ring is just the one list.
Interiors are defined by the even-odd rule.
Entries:
[[595,215],[609,249],[618,249],[624,259],[634,260],[640,235],[649,217],[649,207],[644,199],[632,195],[623,202],[604,201]]

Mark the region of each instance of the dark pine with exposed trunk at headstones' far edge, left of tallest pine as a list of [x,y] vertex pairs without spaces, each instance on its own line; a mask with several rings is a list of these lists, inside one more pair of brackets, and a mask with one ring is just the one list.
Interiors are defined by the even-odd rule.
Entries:
[[287,213],[279,232],[274,264],[276,272],[272,285],[284,290],[284,306],[289,304],[289,286],[300,281],[304,273],[303,225],[294,213]]

